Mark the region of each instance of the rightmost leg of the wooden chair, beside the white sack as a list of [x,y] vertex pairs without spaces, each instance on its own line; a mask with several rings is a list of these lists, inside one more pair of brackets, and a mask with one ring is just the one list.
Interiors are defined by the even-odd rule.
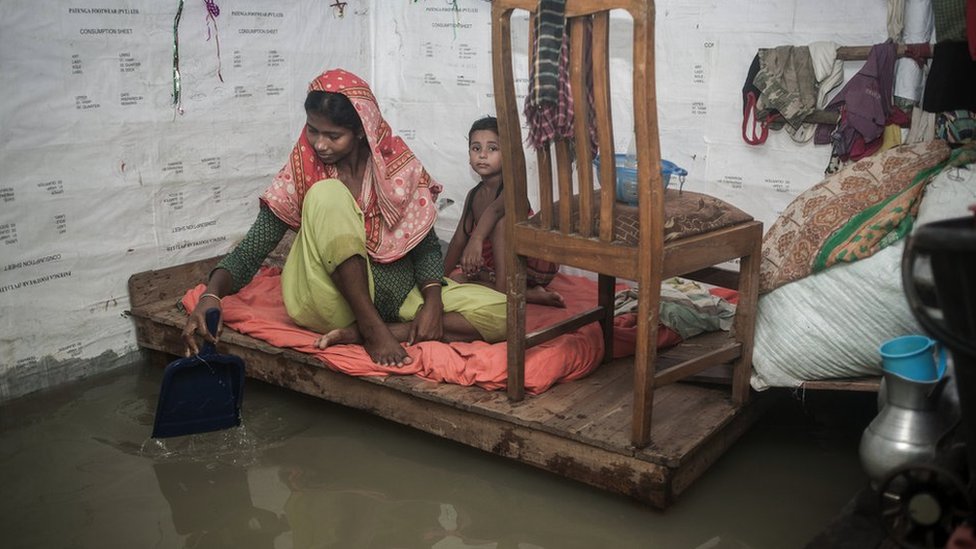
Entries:
[[742,354],[733,363],[732,403],[736,406],[749,400],[749,378],[752,375],[752,349],[756,334],[756,313],[759,303],[759,263],[762,257],[762,225],[757,224],[749,255],[739,262],[739,302],[736,305],[733,330],[742,345]]

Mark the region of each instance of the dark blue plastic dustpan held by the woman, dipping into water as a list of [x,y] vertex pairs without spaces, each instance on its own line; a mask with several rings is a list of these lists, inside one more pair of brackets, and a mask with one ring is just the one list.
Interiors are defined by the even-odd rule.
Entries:
[[[217,333],[220,309],[207,311],[207,330]],[[200,353],[169,363],[156,404],[153,438],[219,431],[241,424],[244,361],[218,354],[204,343]]]

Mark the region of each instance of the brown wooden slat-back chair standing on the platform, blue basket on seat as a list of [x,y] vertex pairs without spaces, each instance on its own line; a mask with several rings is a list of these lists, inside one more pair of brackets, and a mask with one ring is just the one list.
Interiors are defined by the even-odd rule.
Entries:
[[[581,123],[589,119],[592,105],[599,156],[614,158],[609,12],[618,8],[626,10],[633,18],[633,104],[627,108],[635,121],[633,134],[636,135],[639,200],[636,207],[615,200],[614,162],[599,163],[601,184],[599,188],[595,186],[592,167],[595,151],[592,150],[588,124]],[[521,105],[513,70],[512,15],[516,10],[528,12],[531,62],[538,1],[492,2],[493,78],[505,178],[508,395],[512,400],[521,400],[524,396],[527,348],[590,322],[599,321],[602,325],[604,362],[608,362],[613,356],[616,279],[636,281],[640,297],[631,427],[634,445],[643,447],[650,442],[656,387],[732,362],[732,400],[735,405],[747,400],[762,224],[716,198],[689,191],[665,190],[659,170],[653,0],[566,0],[575,138],[556,140],[550,147],[536,152],[540,204],[538,213],[529,218],[528,172],[519,116]],[[592,25],[591,33],[586,32],[589,25]],[[588,34],[592,40],[587,47],[584,37]],[[587,100],[587,70],[592,74],[592,103]],[[630,135],[630,128],[625,130]],[[578,192],[574,192],[574,184]],[[526,257],[538,257],[597,273],[599,297],[596,306],[557,325],[526,334]],[[707,349],[701,356],[658,371],[655,358],[662,280],[680,275],[693,278],[689,273],[736,259],[739,260],[739,301],[733,335],[718,348]]]

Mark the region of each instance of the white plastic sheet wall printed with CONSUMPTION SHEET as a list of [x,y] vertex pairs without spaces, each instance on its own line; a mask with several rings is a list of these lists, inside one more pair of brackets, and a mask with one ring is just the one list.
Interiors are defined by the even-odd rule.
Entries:
[[[204,0],[0,3],[0,400],[132,356],[128,277],[234,245],[325,68],[372,84],[454,201],[437,224],[450,238],[475,182],[468,126],[494,113],[490,2],[214,3],[209,24]],[[661,142],[690,172],[685,188],[771,223],[822,178],[829,151],[778,134],[743,143],[753,55],[874,44],[885,19],[883,0],[658,2]],[[616,93],[629,93],[628,58],[629,45],[615,44]]]

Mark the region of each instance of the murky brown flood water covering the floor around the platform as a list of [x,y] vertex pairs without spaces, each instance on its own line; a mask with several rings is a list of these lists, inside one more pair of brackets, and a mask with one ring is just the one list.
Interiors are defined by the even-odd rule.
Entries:
[[5,548],[803,547],[866,483],[874,395],[785,391],[665,512],[248,380],[244,425],[149,438],[162,369],[0,405]]

